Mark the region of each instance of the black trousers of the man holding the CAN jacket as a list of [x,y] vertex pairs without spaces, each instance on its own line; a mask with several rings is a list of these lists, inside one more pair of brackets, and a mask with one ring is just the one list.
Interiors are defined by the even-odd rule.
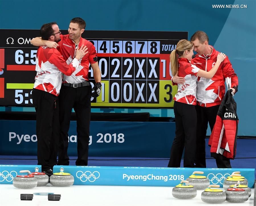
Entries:
[[[216,122],[216,117],[220,105],[212,107],[202,107],[196,105],[197,113],[197,138],[196,138],[196,160],[195,167],[206,167],[205,160],[205,137],[208,127],[208,122],[213,130],[214,124]],[[218,168],[231,168],[230,159],[223,160],[223,156],[218,154],[216,157],[216,164]]]

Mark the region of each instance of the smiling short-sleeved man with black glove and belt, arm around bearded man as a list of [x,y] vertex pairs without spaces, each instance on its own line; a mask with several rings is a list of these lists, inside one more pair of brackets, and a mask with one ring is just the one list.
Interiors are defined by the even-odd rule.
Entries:
[[[56,43],[43,41],[39,37],[31,40],[34,46],[48,45],[57,48],[69,64],[78,47],[82,44],[87,47],[88,54],[81,60],[81,65],[71,75],[63,75],[60,90],[60,146],[58,165],[69,165],[67,155],[68,130],[72,108],[77,117],[77,161],[76,165],[88,164],[89,126],[91,119],[91,96],[97,97],[101,92],[101,71],[99,69],[94,45],[81,37],[86,23],[82,18],[76,17],[70,21],[68,34],[61,35],[61,41]],[[96,85],[91,88],[88,78],[89,64],[93,69]]]

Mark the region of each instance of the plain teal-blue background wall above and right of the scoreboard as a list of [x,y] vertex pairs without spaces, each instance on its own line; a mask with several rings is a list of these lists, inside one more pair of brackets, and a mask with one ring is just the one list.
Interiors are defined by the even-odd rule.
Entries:
[[[256,1],[0,1],[1,29],[39,29],[56,21],[67,29],[80,16],[87,30],[205,31],[225,52],[239,78],[238,135],[256,136]],[[247,8],[213,8],[246,5]],[[163,113],[163,115],[165,112]],[[173,114],[171,112],[171,114]],[[166,115],[170,115],[169,112]],[[209,134],[209,132],[208,132]]]

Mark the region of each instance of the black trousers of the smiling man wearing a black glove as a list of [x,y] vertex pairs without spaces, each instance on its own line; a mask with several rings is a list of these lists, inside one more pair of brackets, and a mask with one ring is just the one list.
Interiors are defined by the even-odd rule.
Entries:
[[61,86],[60,95],[60,145],[58,165],[69,165],[67,155],[68,130],[72,108],[77,118],[77,160],[76,165],[88,164],[89,127],[91,120],[91,86]]

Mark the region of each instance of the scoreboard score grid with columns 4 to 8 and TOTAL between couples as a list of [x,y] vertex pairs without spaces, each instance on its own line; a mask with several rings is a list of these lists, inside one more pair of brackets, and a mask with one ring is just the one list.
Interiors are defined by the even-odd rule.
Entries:
[[[172,107],[170,52],[179,40],[88,39],[96,49],[102,93],[92,106]],[[93,71],[89,70],[93,81]]]

